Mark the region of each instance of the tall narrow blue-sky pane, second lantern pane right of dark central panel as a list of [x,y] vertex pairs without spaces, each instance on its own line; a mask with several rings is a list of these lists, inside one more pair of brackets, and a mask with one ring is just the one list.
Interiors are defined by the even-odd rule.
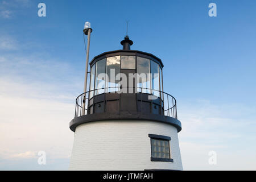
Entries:
[[151,66],[151,76],[152,76],[152,94],[154,94],[157,97],[160,97],[159,92],[155,90],[159,90],[159,72],[158,72],[158,67],[159,65],[155,63],[155,61],[150,61],[150,66]]

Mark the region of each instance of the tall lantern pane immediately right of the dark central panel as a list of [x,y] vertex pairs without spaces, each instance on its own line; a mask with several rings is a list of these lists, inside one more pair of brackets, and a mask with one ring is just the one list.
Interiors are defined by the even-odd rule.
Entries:
[[139,80],[137,82],[137,86],[139,88],[147,88],[147,89],[139,89],[138,92],[142,93],[150,93],[150,78],[148,77],[148,73],[150,73],[150,60],[137,57],[137,73],[139,74]]

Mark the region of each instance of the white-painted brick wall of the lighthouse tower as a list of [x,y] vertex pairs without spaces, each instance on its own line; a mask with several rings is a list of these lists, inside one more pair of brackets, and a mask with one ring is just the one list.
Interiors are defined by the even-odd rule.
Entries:
[[[172,162],[151,162],[148,134],[171,137]],[[154,121],[98,121],[76,128],[71,170],[182,170],[177,129]]]

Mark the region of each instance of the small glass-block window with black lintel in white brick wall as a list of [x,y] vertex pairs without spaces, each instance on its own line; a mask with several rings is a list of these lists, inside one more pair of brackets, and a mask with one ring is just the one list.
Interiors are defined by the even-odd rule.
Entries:
[[170,137],[148,134],[151,141],[151,161],[174,162],[170,154]]

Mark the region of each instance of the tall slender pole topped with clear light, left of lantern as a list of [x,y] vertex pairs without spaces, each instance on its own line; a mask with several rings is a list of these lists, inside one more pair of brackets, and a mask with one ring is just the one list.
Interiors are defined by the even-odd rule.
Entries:
[[89,50],[90,50],[90,33],[92,28],[90,28],[90,22],[85,22],[84,24],[84,34],[88,35],[87,50],[86,50],[86,65],[85,65],[85,79],[84,79],[84,99],[82,101],[82,115],[85,114],[85,97],[86,97],[86,86],[87,86],[87,75],[88,75],[88,60],[89,60]]

